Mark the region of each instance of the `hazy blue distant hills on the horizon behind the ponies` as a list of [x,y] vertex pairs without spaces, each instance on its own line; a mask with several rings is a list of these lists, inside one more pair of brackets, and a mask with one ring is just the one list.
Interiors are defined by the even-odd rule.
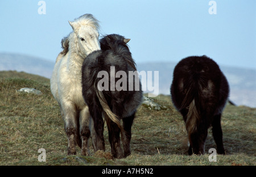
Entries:
[[[16,70],[50,78],[55,62],[23,54],[0,53],[0,71]],[[138,71],[159,71],[159,94],[170,95],[175,62],[137,63]],[[256,107],[256,69],[220,66],[230,85],[230,100]],[[154,75],[153,75],[154,78]]]

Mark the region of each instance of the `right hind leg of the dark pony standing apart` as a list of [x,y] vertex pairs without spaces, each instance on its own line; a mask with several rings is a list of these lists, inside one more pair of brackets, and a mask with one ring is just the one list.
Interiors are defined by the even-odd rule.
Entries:
[[225,149],[222,141],[221,114],[213,117],[212,134],[217,146],[217,153],[225,154]]

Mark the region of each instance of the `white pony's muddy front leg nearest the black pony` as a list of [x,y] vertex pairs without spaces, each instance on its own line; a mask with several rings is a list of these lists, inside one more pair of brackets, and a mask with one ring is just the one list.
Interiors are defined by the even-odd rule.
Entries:
[[90,112],[88,106],[80,111],[80,136],[82,140],[81,154],[89,155],[88,140],[90,138]]

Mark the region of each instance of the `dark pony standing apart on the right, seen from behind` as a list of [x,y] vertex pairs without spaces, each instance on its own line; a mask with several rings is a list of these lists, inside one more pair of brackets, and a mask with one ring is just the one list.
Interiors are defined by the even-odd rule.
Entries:
[[189,155],[204,154],[210,125],[217,153],[225,154],[221,113],[228,95],[228,81],[216,62],[207,56],[187,57],[175,66],[171,98],[185,121],[190,144]]

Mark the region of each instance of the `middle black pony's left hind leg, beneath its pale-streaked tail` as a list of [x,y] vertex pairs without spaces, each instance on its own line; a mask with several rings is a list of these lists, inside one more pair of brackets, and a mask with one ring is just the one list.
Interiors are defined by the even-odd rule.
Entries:
[[122,148],[120,142],[120,129],[108,116],[105,115],[106,123],[109,130],[109,143],[111,146],[111,153],[114,158],[122,158]]

